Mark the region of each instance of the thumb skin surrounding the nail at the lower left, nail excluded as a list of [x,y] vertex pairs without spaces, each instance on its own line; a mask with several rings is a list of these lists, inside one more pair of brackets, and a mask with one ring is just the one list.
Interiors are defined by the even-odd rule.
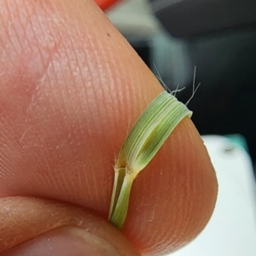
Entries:
[[2,207],[0,236],[4,237],[4,243],[0,242],[0,252],[3,251],[3,247],[9,249],[49,230],[73,226],[88,230],[91,234],[109,241],[122,256],[140,255],[119,230],[81,207],[19,196],[1,198],[0,204]]

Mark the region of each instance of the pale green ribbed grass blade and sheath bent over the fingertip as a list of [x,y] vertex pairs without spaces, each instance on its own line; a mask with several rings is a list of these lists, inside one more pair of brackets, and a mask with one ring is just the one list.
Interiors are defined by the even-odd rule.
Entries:
[[165,143],[174,128],[192,112],[166,91],[160,93],[137,119],[114,165],[109,221],[119,229],[125,224],[131,185],[139,172]]

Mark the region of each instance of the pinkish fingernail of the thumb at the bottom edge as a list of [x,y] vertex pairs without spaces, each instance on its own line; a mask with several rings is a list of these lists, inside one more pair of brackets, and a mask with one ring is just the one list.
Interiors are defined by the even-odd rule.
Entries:
[[38,236],[1,256],[120,256],[108,241],[86,230],[66,227]]

